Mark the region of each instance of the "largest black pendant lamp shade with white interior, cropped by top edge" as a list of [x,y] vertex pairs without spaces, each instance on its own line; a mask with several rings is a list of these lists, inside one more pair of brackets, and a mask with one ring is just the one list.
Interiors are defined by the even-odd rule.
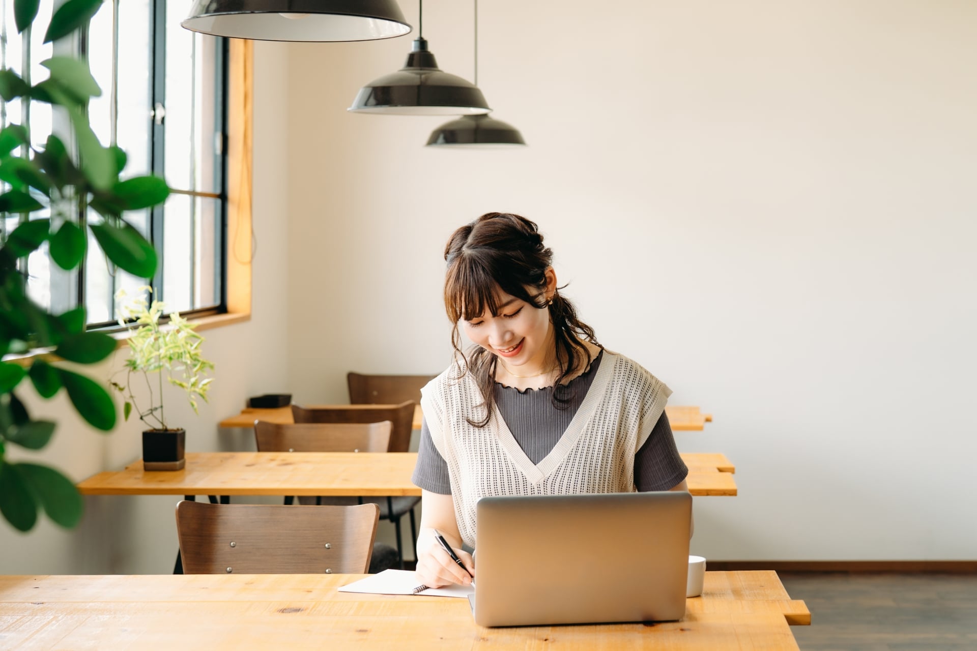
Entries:
[[410,31],[396,0],[193,0],[180,24],[260,41],[372,41]]

